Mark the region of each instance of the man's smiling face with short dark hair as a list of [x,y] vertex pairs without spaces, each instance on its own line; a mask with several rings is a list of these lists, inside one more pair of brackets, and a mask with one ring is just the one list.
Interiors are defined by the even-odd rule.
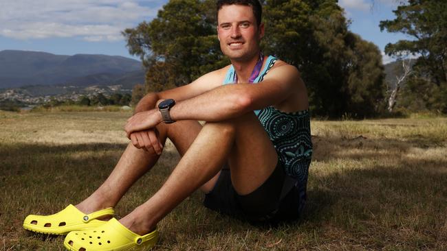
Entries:
[[251,60],[259,53],[264,26],[257,25],[251,6],[223,5],[217,15],[217,36],[231,60]]

